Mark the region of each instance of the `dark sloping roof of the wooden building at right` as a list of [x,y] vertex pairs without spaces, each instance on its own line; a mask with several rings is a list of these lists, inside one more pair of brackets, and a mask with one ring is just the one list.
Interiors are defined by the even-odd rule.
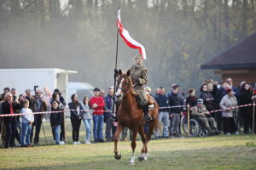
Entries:
[[256,32],[201,65],[201,69],[256,68]]

